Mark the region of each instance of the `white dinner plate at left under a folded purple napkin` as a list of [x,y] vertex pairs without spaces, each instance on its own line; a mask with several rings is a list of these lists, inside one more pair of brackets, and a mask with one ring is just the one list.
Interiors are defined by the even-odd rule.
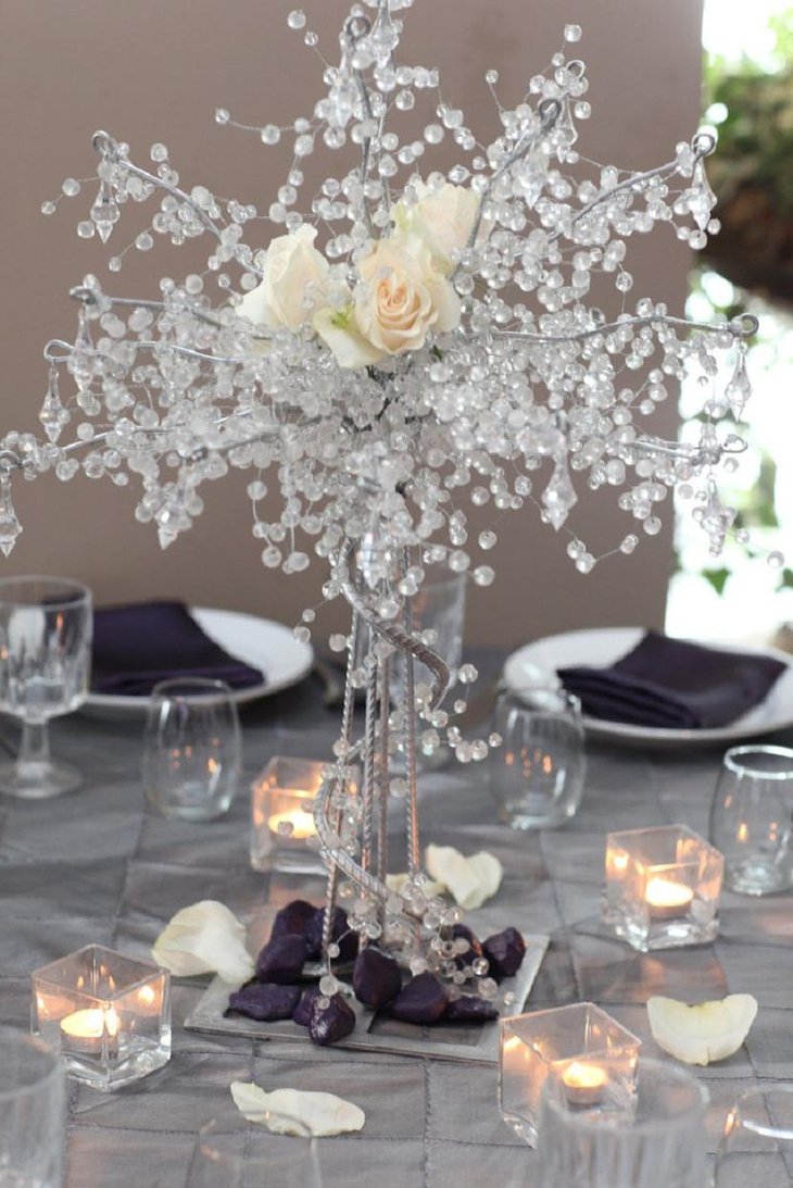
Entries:
[[[190,607],[190,614],[202,631],[229,656],[261,669],[265,674],[266,680],[261,684],[231,690],[231,700],[237,706],[288,689],[311,670],[311,645],[302,644],[283,623],[260,619],[255,614],[241,614],[239,611],[211,611],[202,606]],[[91,718],[128,718],[145,714],[148,703],[148,697],[89,693],[82,710]]]

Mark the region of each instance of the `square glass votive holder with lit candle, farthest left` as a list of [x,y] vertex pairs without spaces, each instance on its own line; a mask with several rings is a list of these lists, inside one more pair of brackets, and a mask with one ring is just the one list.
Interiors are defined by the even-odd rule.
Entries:
[[107,1093],[171,1059],[171,975],[88,944],[32,974],[31,1030],[66,1073]]

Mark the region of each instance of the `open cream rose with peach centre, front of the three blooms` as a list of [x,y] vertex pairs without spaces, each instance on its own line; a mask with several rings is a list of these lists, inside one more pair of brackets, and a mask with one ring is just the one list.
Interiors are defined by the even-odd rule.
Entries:
[[459,326],[459,298],[415,235],[380,240],[359,264],[359,277],[355,323],[383,354],[418,350],[430,330]]

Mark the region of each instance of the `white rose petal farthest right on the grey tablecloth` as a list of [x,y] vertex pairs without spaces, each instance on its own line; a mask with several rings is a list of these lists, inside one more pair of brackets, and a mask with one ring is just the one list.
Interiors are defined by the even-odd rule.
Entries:
[[757,999],[751,994],[728,994],[697,1006],[658,996],[647,1001],[653,1040],[685,1064],[710,1064],[731,1056],[748,1036],[756,1015]]

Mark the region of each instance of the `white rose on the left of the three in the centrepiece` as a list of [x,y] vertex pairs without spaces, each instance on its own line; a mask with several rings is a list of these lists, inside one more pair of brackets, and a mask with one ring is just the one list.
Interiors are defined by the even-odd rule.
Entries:
[[241,317],[268,330],[297,330],[330,296],[330,265],[313,247],[315,227],[279,235],[267,248],[261,283],[236,308]]

